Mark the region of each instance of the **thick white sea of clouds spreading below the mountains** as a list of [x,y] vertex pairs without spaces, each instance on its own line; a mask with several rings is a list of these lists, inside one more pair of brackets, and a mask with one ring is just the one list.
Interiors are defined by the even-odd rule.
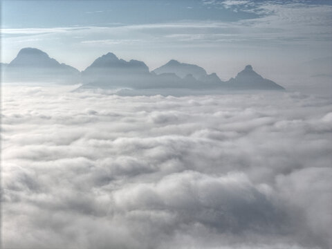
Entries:
[[332,101],[3,86],[3,248],[330,248]]

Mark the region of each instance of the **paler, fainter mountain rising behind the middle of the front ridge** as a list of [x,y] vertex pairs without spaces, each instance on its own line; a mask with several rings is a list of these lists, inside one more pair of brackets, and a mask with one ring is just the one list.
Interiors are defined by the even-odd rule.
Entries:
[[157,75],[161,73],[175,73],[178,77],[185,77],[187,75],[192,75],[196,80],[200,80],[201,77],[205,77],[207,75],[204,68],[201,66],[196,66],[194,64],[186,64],[176,61],[175,59],[171,59],[165,65],[156,68],[154,71]]

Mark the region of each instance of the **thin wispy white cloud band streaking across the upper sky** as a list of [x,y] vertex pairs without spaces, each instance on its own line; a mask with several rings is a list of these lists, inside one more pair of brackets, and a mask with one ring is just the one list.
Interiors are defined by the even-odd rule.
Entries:
[[[273,3],[271,1],[255,2],[255,1],[205,1],[205,5],[218,5],[231,8],[232,6],[243,6],[243,10],[261,11],[264,15],[253,19],[242,19],[239,21],[178,21],[174,23],[160,24],[138,24],[123,25],[113,24],[109,26],[86,26],[86,27],[64,27],[64,28],[16,28],[1,29],[4,39],[11,37],[20,37],[25,35],[66,35],[66,33],[78,33],[84,37],[94,36],[103,37],[105,40],[127,39],[131,35],[133,40],[147,39],[151,37],[158,38],[159,41],[163,37],[176,37],[176,35],[196,35],[206,34],[211,37],[213,35],[234,35],[237,38],[241,35],[242,39],[246,39],[252,46],[255,46],[255,40],[273,38],[277,41],[292,42],[297,40],[315,41],[317,39],[329,40],[332,37],[329,25],[332,24],[331,12],[332,6],[315,6],[306,5],[304,3]],[[249,6],[249,7],[248,7]],[[205,37],[206,38],[206,37]],[[204,38],[204,40],[205,40]],[[242,40],[241,39],[241,40]],[[199,39],[196,39],[199,41]],[[5,41],[6,42],[6,41]],[[169,41],[167,41],[169,42]],[[174,40],[173,42],[176,42]],[[266,44],[268,46],[268,43]]]

